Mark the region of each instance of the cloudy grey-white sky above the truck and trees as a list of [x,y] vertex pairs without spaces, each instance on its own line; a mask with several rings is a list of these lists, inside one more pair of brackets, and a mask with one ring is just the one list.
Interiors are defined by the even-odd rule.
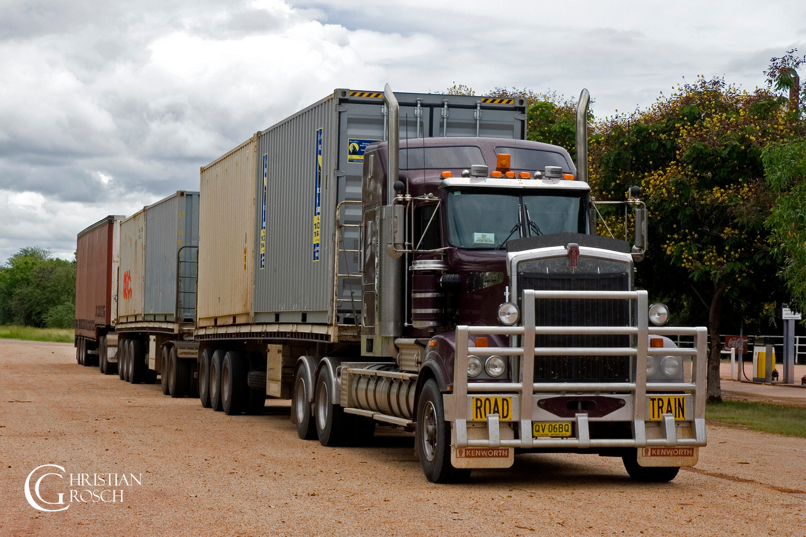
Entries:
[[698,75],[754,89],[787,48],[804,2],[0,0],[0,262],[72,259],[335,88],[587,87],[602,118]]

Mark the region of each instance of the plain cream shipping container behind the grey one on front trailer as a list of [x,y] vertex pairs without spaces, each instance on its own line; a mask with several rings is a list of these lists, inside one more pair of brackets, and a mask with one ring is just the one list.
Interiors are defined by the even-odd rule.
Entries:
[[258,134],[202,167],[197,325],[251,323]]

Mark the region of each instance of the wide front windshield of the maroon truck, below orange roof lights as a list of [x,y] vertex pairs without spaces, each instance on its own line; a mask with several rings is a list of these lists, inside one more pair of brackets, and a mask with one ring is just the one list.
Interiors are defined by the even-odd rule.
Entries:
[[512,238],[588,233],[588,192],[457,189],[447,193],[447,236],[458,248],[504,246]]

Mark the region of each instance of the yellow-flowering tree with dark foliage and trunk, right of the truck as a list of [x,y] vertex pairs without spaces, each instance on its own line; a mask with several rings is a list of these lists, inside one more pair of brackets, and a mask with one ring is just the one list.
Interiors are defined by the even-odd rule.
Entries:
[[[762,148],[791,135],[791,119],[767,90],[752,93],[698,78],[631,116],[601,122],[592,135],[597,196],[623,200],[642,187],[650,250],[638,284],[708,326],[708,399],[720,401],[723,304],[739,320],[758,318],[779,283],[764,227],[774,200]],[[624,233],[623,217],[611,228]]]

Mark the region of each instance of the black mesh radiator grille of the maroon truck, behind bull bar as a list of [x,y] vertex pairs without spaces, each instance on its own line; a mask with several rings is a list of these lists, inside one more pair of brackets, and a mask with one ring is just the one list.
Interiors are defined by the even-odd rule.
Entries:
[[[518,288],[538,291],[626,291],[619,274],[518,275]],[[629,326],[629,300],[538,299],[537,326]],[[629,336],[538,335],[536,347],[629,347]],[[543,356],[534,364],[534,382],[629,382],[628,356]]]

